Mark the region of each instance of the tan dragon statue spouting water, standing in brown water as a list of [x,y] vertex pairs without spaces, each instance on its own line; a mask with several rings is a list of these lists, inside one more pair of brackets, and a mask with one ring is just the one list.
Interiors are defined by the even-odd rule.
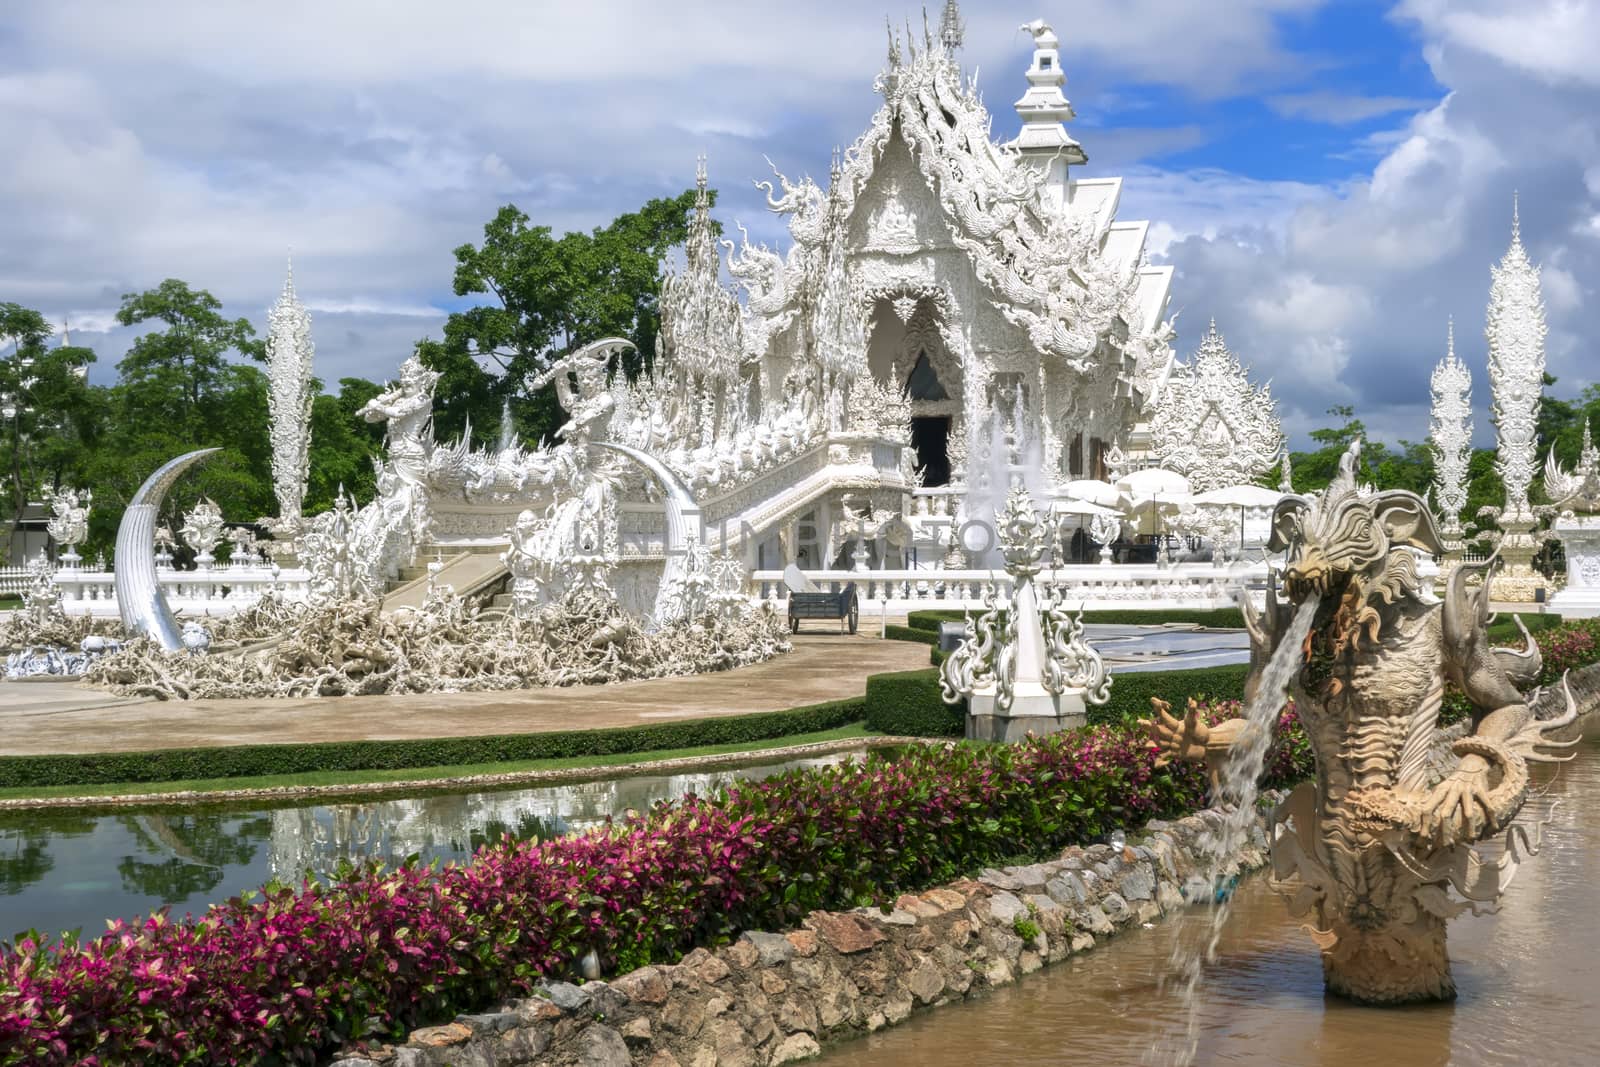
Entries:
[[[1290,910],[1312,920],[1330,992],[1365,1003],[1446,1000],[1446,920],[1493,910],[1536,851],[1512,825],[1528,765],[1576,744],[1555,736],[1578,709],[1565,680],[1565,710],[1518,688],[1541,670],[1526,630],[1522,651],[1491,648],[1486,582],[1472,589],[1467,579],[1486,577],[1496,560],[1458,568],[1443,601],[1424,592],[1416,550],[1442,552],[1434,517],[1413,493],[1358,486],[1358,458],[1355,442],[1320,496],[1278,504],[1270,549],[1288,552],[1286,601],[1269,590],[1262,613],[1246,608],[1250,697],[1291,616],[1315,605],[1291,693],[1317,774],[1274,814],[1272,870]],[[1442,731],[1446,685],[1472,715]],[[1158,701],[1144,726],[1158,765],[1205,761],[1213,782],[1259,729],[1245,718],[1208,726],[1195,705],[1179,720]],[[1504,849],[1490,859],[1475,843],[1496,835]]]

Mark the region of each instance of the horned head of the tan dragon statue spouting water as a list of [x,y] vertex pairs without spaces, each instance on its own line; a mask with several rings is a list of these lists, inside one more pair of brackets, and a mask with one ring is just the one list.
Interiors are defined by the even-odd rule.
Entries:
[[1360,456],[1357,438],[1322,494],[1278,501],[1267,542],[1274,552],[1288,552],[1283,592],[1290,601],[1320,597],[1325,611],[1338,619],[1336,646],[1346,648],[1354,648],[1363,630],[1370,640],[1378,638],[1382,625],[1378,601],[1394,605],[1421,592],[1411,549],[1443,552],[1422,498],[1406,490],[1374,493],[1357,485]]

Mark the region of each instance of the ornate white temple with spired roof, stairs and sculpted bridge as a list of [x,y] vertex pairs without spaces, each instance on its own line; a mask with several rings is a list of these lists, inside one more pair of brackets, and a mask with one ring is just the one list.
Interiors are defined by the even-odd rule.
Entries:
[[[1270,395],[1221,338],[1218,352],[1202,346],[1194,366],[1174,366],[1173,269],[1146,262],[1147,222],[1117,218],[1122,179],[1082,173],[1058,37],[1042,21],[1024,29],[1034,50],[1014,104],[1021,131],[1003,142],[960,66],[955,3],[920,42],[891,32],[882,104],[835,150],[826,187],[784,174],[757,182],[787,222],[786,250],[747,235],[718,246],[702,160],[651,370],[608,378],[621,341],[558,358],[541,379],[570,416],[554,445],[435,442],[437,374],[406,360],[363,410],[389,432],[378,499],[309,520],[294,534],[306,569],[272,582],[304,581],[312,595],[387,590],[413,606],[424,577],[464,595],[509,582],[507,600],[533,608],[584,558],[582,581],[605,581],[638,611],[693,600],[667,581],[725,595],[733,565],[757,595],[781,590],[774,577],[795,565],[821,581],[874,571],[866,598],[878,601],[976,603],[994,577],[994,542],[962,531],[989,523],[992,534],[1013,483],[1051,523],[1075,517],[1075,528],[1053,526],[1061,542],[1088,537],[1075,558],[1134,530],[1106,506],[1117,486],[1085,498],[1072,485],[1158,461],[1149,426],[1166,389],[1174,411],[1198,405],[1205,456],[1227,458],[1237,480],[1258,477],[1282,446]],[[286,286],[272,317],[274,355],[306,357],[274,366],[285,520],[304,485],[298,390],[310,355],[291,304]],[[1203,458],[1189,466],[1216,474]],[[1130,491],[1130,510],[1138,498],[1144,525],[1171,533],[1162,485],[1165,499]],[[688,533],[675,534],[688,514]],[[1237,541],[1230,552],[1245,547]],[[1077,600],[1232,601],[1235,579],[1157,571],[1146,547],[1149,563],[1098,568]]]

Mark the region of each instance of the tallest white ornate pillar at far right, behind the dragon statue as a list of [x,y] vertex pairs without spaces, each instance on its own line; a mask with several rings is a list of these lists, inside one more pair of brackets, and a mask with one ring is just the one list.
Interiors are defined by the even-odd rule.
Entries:
[[1499,454],[1494,470],[1506,483],[1506,506],[1498,514],[1506,569],[1494,576],[1494,598],[1530,601],[1544,579],[1533,569],[1538,550],[1538,518],[1528,504],[1528,486],[1539,472],[1539,398],[1544,392],[1544,299],[1539,269],[1522,246],[1522,226],[1514,203],[1510,248],[1493,269],[1488,323],[1491,411]]

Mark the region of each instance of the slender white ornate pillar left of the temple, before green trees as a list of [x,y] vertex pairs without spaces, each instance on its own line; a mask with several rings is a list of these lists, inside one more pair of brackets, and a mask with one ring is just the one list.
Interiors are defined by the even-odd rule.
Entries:
[[306,475],[310,462],[310,312],[294,296],[294,267],[283,293],[267,310],[267,414],[272,435],[272,491],[278,498],[270,526],[293,536],[301,525]]

